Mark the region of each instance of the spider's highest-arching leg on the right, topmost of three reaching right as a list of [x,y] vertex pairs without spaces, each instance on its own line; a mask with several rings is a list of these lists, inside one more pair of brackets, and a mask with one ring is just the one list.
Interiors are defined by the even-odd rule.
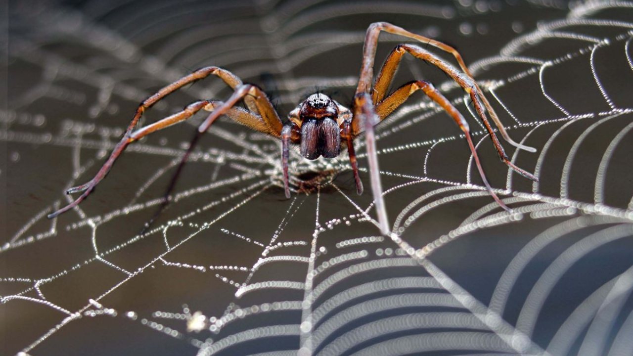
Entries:
[[510,136],[508,135],[508,132],[506,132],[505,127],[503,127],[501,120],[499,120],[494,109],[488,102],[488,99],[483,95],[477,82],[475,82],[475,79],[473,78],[472,73],[470,73],[470,70],[468,70],[466,63],[464,63],[464,61],[461,59],[461,54],[458,53],[456,49],[452,48],[451,46],[448,46],[448,44],[444,44],[434,39],[430,39],[429,37],[425,37],[422,35],[417,35],[412,32],[409,32],[407,30],[402,29],[401,27],[392,25],[391,23],[375,22],[375,23],[372,23],[368,27],[367,34],[365,35],[365,47],[363,49],[363,66],[361,68],[361,75],[360,75],[360,79],[358,80],[358,89],[356,90],[356,92],[369,92],[369,89],[371,87],[372,68],[373,68],[373,62],[375,59],[376,48],[378,46],[378,37],[380,35],[380,31],[388,32],[390,34],[401,35],[403,37],[408,37],[410,39],[416,39],[417,41],[423,42],[424,44],[434,46],[436,48],[441,49],[442,51],[446,51],[450,54],[453,54],[455,60],[460,65],[461,71],[468,77],[468,79],[470,79],[473,82],[474,90],[477,91],[479,96],[481,96],[482,101],[484,102],[484,106],[486,106],[486,109],[490,113],[490,117],[492,118],[492,121],[494,121],[494,124],[499,129],[499,133],[501,134],[501,137],[503,137],[503,139],[508,141],[508,143],[512,144],[513,146],[517,148],[525,149],[526,151],[530,151],[530,152],[536,152],[536,149],[529,146],[524,146],[520,143],[516,143],[515,141],[513,141],[513,139],[510,138]]

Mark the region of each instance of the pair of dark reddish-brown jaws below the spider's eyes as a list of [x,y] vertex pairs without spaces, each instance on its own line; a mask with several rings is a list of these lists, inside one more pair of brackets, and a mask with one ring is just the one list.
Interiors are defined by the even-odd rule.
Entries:
[[334,158],[341,153],[341,132],[336,120],[309,118],[301,125],[301,155],[308,160]]

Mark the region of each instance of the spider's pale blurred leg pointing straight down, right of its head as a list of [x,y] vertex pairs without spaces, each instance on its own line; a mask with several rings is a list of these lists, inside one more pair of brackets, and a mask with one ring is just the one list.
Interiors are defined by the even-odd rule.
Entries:
[[[373,125],[378,124],[379,117],[376,114],[372,98],[367,92],[360,92],[354,96],[354,110],[351,126],[360,125],[359,121],[365,127],[365,141],[367,143],[367,160],[369,162],[369,177],[372,183],[373,201],[376,205],[376,215],[380,232],[383,235],[389,235],[389,219],[387,218],[387,210],[385,209],[385,200],[382,196],[382,184],[380,183],[380,170],[378,167],[378,155],[376,153],[376,138],[373,134]],[[348,141],[349,143],[349,141]],[[351,156],[350,156],[351,158]]]

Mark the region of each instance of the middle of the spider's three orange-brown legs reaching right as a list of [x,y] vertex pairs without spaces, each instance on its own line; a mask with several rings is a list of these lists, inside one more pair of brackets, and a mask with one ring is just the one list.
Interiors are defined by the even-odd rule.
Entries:
[[[398,65],[400,61],[402,60],[402,56],[404,55],[404,53],[410,53],[416,58],[419,58],[424,61],[428,61],[432,65],[435,65],[437,68],[441,69],[444,73],[449,75],[449,77],[451,77],[451,79],[453,79],[457,84],[459,84],[466,92],[468,92],[468,94],[470,94],[470,97],[472,98],[473,103],[475,105],[475,110],[477,111],[477,115],[479,115],[482,122],[484,122],[484,126],[486,127],[486,130],[490,134],[492,144],[494,145],[494,148],[497,150],[497,153],[499,155],[499,158],[501,159],[501,162],[508,165],[508,167],[510,167],[512,170],[514,170],[518,174],[523,175],[523,177],[526,177],[527,179],[531,179],[532,181],[537,181],[537,178],[534,175],[525,171],[523,168],[517,167],[517,165],[511,162],[510,158],[508,158],[508,155],[506,155],[505,150],[503,149],[503,146],[501,146],[501,143],[499,143],[499,139],[497,138],[496,134],[494,134],[494,130],[492,130],[492,126],[490,125],[490,122],[488,122],[488,119],[486,117],[486,110],[484,110],[484,106],[486,104],[485,102],[484,102],[484,105],[482,105],[481,103],[481,101],[483,101],[485,97],[481,93],[479,86],[477,86],[477,83],[474,80],[472,80],[471,77],[468,77],[468,75],[466,75],[465,73],[460,72],[460,70],[453,67],[449,63],[446,63],[440,58],[437,58],[435,54],[430,53],[426,49],[423,49],[419,46],[414,46],[411,44],[401,44],[399,46],[396,46],[396,48],[394,48],[391,54],[389,54],[389,56],[387,57],[387,60],[385,61],[385,64],[383,65],[382,70],[380,71],[378,78],[376,79],[376,84],[373,90],[374,104],[382,101],[382,99],[387,95],[387,91],[389,90],[389,85],[391,84],[393,80],[394,73],[398,69]],[[379,115],[381,118],[384,118],[384,116],[382,116],[380,113]]]

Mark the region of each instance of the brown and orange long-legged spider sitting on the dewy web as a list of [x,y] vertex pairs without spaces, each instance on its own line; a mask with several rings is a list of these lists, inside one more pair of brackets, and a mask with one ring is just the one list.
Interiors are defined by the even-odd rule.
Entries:
[[[442,51],[446,51],[454,56],[461,70],[458,70],[458,68],[453,67],[453,65],[441,60],[438,56],[436,56],[436,54],[433,54],[420,46],[416,46],[414,44],[399,44],[387,56],[387,59],[385,60],[385,63],[382,66],[382,69],[380,70],[372,88],[373,64],[378,45],[378,37],[382,31],[401,35],[409,39],[415,39],[423,44],[434,46]],[[300,103],[296,108],[294,108],[294,110],[290,111],[288,114],[289,122],[284,124],[266,94],[259,87],[254,86],[253,84],[242,83],[241,79],[223,68],[200,68],[173,82],[172,84],[163,87],[163,89],[160,89],[158,92],[142,101],[141,105],[139,105],[136,110],[134,118],[132,118],[132,121],[128,124],[127,130],[125,130],[125,134],[123,135],[121,141],[116,144],[110,157],[106,160],[101,169],[99,169],[99,172],[97,172],[94,178],[85,184],[70,188],[66,191],[66,194],[78,192],[84,193],[81,194],[77,200],[66,205],[66,207],[63,207],[60,210],[51,213],[48,217],[56,217],[81,203],[81,201],[91,193],[94,187],[106,176],[106,174],[108,174],[108,171],[110,171],[110,168],[116,158],[121,155],[128,144],[138,141],[141,137],[151,134],[156,130],[165,129],[165,127],[187,120],[187,118],[192,117],[200,110],[205,110],[210,111],[210,115],[198,128],[199,132],[206,132],[206,130],[209,129],[211,124],[213,124],[220,115],[225,115],[239,124],[246,125],[251,129],[280,139],[282,146],[281,160],[284,192],[287,198],[290,198],[288,158],[289,146],[291,143],[299,144],[299,151],[301,152],[301,155],[308,160],[315,160],[319,156],[323,156],[324,158],[335,158],[341,154],[343,148],[347,148],[349,163],[354,174],[356,191],[358,194],[362,194],[363,183],[361,182],[358,174],[358,163],[356,162],[356,153],[354,152],[354,138],[364,131],[367,143],[370,182],[372,184],[372,193],[375,201],[379,227],[382,234],[387,235],[389,234],[389,223],[382,196],[382,188],[380,186],[378,158],[373,127],[388,117],[389,114],[401,106],[404,101],[411,96],[411,94],[417,91],[424,92],[424,94],[435,101],[437,105],[441,106],[460,127],[466,137],[475,165],[477,165],[477,170],[479,170],[479,174],[487,191],[500,207],[510,211],[510,208],[506,207],[497,194],[492,191],[492,188],[486,179],[486,174],[479,162],[479,156],[477,156],[477,151],[475,151],[475,146],[473,145],[472,138],[470,137],[468,123],[461,113],[448,101],[448,99],[441,94],[441,92],[437,91],[430,82],[425,80],[414,80],[404,84],[391,93],[389,92],[389,87],[391,86],[394,74],[396,73],[396,70],[398,70],[400,61],[405,53],[409,53],[420,60],[427,61],[428,63],[436,66],[459,84],[470,96],[470,99],[472,99],[475,111],[477,111],[477,115],[482,122],[484,122],[486,130],[491,137],[492,144],[494,145],[494,148],[496,148],[501,161],[508,165],[508,167],[512,170],[515,170],[515,172],[518,172],[518,174],[521,174],[528,179],[532,179],[533,181],[537,181],[537,178],[534,177],[534,175],[517,167],[510,161],[508,155],[506,155],[503,147],[499,143],[499,139],[494,133],[494,130],[488,122],[486,111],[490,114],[501,136],[506,139],[508,143],[527,151],[534,152],[536,149],[515,143],[515,141],[510,139],[496,113],[494,113],[489,101],[487,101],[486,96],[484,96],[479,85],[477,85],[477,82],[475,82],[472,74],[466,67],[464,61],[461,59],[461,55],[454,48],[422,35],[413,34],[401,27],[392,25],[391,23],[376,22],[372,23],[368,27],[367,34],[365,35],[363,63],[361,65],[358,87],[356,88],[356,94],[354,95],[351,109],[342,106],[340,103],[337,103],[337,101],[334,101],[325,94],[316,93],[308,96],[303,103]],[[228,86],[234,89],[232,96],[230,96],[227,101],[195,101],[178,113],[163,118],[153,124],[134,130],[145,110],[151,108],[151,106],[153,106],[156,102],[165,98],[165,96],[168,96],[172,92],[177,91],[181,87],[191,84],[192,82],[196,82],[197,80],[204,79],[209,75],[219,77]],[[235,106],[241,101],[244,102],[248,110]]]

